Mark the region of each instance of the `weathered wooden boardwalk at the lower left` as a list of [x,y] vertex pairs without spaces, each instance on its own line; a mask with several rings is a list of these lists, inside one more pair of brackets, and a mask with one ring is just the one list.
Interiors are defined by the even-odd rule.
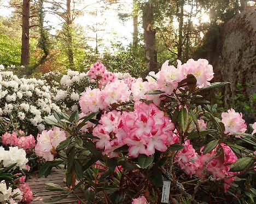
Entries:
[[[33,176],[28,179],[27,183],[30,184],[30,188],[33,192],[33,200],[31,204],[41,204],[46,203],[43,200],[48,199],[54,195],[60,195],[60,191],[49,191],[46,190],[46,185],[44,183],[56,183],[61,187],[66,187],[65,182],[63,182],[64,172],[62,169],[54,169],[47,178],[41,177],[37,178],[37,176]],[[83,197],[83,193],[77,193],[79,197]],[[68,195],[63,200],[57,202],[47,202],[47,203],[58,203],[58,204],[77,204],[78,199],[73,195]]]

